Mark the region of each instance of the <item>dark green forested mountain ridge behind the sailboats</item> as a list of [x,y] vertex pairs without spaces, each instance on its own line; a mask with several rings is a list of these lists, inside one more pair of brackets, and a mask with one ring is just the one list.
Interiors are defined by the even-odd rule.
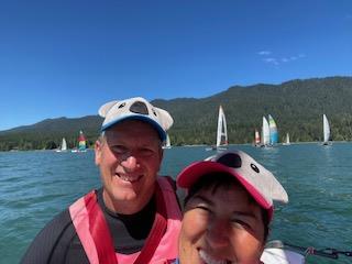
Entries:
[[[321,141],[326,113],[336,141],[352,140],[352,77],[290,80],[280,85],[234,86],[211,97],[154,100],[174,118],[169,131],[173,144],[215,144],[219,105],[223,107],[229,143],[252,143],[262,117],[272,114],[280,141],[289,132],[293,142]],[[53,148],[63,136],[72,147],[79,130],[90,145],[99,134],[102,119],[52,119],[0,132],[0,150]]]

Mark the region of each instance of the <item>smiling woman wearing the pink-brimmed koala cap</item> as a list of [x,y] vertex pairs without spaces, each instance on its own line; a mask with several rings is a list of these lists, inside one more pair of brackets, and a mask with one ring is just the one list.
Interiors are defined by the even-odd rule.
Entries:
[[263,263],[273,200],[288,201],[271,172],[232,151],[189,165],[177,184],[188,195],[176,263]]

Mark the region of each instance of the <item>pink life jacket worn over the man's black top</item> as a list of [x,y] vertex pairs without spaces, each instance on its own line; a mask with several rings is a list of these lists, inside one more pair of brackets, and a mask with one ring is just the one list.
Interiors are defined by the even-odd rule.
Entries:
[[177,257],[182,212],[176,195],[167,177],[158,177],[155,189],[156,210],[161,213],[156,213],[142,251],[134,254],[125,255],[114,252],[112,238],[103,212],[97,202],[95,190],[69,207],[70,218],[90,263],[163,264]]

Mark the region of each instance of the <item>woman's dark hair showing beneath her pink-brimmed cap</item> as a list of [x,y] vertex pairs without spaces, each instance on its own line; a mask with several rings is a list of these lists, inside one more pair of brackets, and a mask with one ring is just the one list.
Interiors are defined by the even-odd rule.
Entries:
[[[206,174],[188,189],[188,194],[184,200],[184,208],[188,204],[189,199],[194,195],[196,195],[200,189],[210,189],[211,193],[215,194],[220,187],[224,189],[231,189],[233,185],[241,186],[245,190],[242,184],[240,184],[239,180],[230,174],[226,174],[226,173]],[[257,202],[254,200],[254,198],[251,195],[249,195],[249,198],[250,198],[250,204],[257,205]],[[270,219],[268,219],[267,210],[265,210],[261,206],[260,208],[261,208],[262,220],[264,224],[264,243],[265,243],[268,235],[268,230],[270,230]]]

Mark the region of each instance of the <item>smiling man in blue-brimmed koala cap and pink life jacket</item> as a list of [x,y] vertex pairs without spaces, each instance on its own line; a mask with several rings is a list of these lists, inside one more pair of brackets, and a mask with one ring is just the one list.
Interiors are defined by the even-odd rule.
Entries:
[[[180,211],[158,177],[167,111],[143,98],[112,101],[96,142],[102,188],[78,199],[35,238],[22,263],[166,263],[177,255]],[[167,207],[166,207],[167,205]]]

